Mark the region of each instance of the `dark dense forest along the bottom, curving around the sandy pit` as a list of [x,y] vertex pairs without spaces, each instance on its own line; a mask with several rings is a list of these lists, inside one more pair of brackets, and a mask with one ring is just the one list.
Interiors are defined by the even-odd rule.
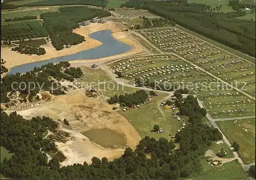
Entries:
[[[195,99],[187,101],[191,105],[197,103]],[[2,112],[1,145],[15,155],[1,163],[1,174],[9,178],[48,179],[177,179],[195,176],[202,171],[200,156],[212,141],[222,139],[218,129],[207,127],[198,117],[197,121],[177,132],[175,141],[145,137],[135,150],[126,148],[123,155],[112,162],[93,157],[91,165],[84,162],[60,168],[58,159],[53,158],[47,163],[46,154],[40,151],[40,148],[45,152],[56,148],[52,140],[43,139],[47,129],[54,131],[57,126],[52,119],[36,117],[26,121],[16,113],[8,116]],[[180,148],[175,149],[174,143],[179,143]]]

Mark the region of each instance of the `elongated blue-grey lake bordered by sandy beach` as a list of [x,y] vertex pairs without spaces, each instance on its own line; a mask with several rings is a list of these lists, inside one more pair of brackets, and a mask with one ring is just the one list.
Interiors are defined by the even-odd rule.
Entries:
[[112,36],[110,30],[102,30],[102,31],[92,33],[90,34],[90,37],[102,42],[102,45],[96,48],[81,51],[81,52],[67,55],[67,56],[56,57],[48,60],[42,60],[38,62],[31,62],[27,64],[18,65],[12,68],[8,74],[10,75],[10,74],[16,74],[16,73],[21,73],[21,74],[26,73],[28,71],[33,70],[34,67],[40,67],[41,65],[47,64],[49,62],[58,63],[61,61],[73,61],[73,60],[79,60],[79,59],[98,59],[102,57],[108,57],[108,56],[124,53],[132,49],[131,46],[116,40]]

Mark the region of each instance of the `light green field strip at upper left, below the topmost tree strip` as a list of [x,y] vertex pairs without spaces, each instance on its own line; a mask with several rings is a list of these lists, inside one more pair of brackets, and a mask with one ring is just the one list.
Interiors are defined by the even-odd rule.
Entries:
[[42,13],[47,13],[51,12],[50,10],[29,10],[29,11],[13,11],[13,12],[8,12],[8,11],[3,11],[1,12],[1,19],[2,21],[5,20],[5,18],[14,18],[14,17],[24,17],[24,16],[39,16]]

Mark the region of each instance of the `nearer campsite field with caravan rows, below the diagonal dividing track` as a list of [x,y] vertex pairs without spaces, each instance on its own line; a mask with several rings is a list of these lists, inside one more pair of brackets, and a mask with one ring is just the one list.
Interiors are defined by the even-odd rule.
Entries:
[[131,84],[140,80],[143,86],[155,87],[158,84],[165,91],[172,90],[170,87],[188,88],[190,94],[199,97],[213,118],[255,114],[254,100],[226,87],[173,54],[124,59],[112,63],[111,68]]

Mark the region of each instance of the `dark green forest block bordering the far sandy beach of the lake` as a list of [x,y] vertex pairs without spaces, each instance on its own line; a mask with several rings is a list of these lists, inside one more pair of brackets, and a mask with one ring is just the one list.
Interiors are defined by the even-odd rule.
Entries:
[[41,14],[40,17],[44,19],[42,25],[50,34],[53,46],[56,50],[61,50],[64,45],[75,45],[84,41],[84,36],[72,31],[79,27],[78,22],[108,15],[110,12],[101,9],[72,6],[59,8],[58,12]]

